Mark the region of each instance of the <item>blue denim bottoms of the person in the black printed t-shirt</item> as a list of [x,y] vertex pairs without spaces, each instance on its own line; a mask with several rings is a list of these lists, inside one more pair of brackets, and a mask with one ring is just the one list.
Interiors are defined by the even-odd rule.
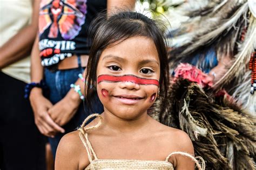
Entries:
[[[65,97],[70,90],[70,84],[75,83],[78,79],[78,74],[83,73],[83,71],[84,68],[82,67],[56,70],[54,72],[47,68],[44,69],[44,79],[50,90],[49,100],[52,102],[52,104],[57,103]],[[102,113],[103,111],[103,105],[99,101],[98,96],[96,96],[96,102],[93,102],[92,109],[90,109],[90,111],[86,107],[86,103],[81,103],[75,116],[70,120],[69,123],[63,126],[65,133],[57,133],[54,138],[49,138],[53,157],[56,155],[60,138],[62,138],[64,134],[76,130],[83,123],[84,119],[90,114]]]

